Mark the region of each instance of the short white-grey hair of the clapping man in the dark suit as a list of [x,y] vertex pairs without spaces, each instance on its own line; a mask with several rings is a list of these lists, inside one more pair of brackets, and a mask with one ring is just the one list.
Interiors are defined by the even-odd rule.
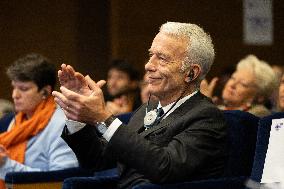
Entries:
[[201,27],[190,23],[167,22],[160,28],[164,32],[176,38],[187,38],[187,56],[182,65],[182,71],[190,67],[191,63],[199,64],[201,75],[199,81],[205,78],[215,58],[212,39]]

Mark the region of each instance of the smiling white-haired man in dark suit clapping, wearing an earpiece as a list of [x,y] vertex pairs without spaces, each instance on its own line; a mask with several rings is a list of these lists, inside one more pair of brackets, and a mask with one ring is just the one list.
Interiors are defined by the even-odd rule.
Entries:
[[[104,169],[118,163],[120,179],[112,188],[223,176],[226,121],[199,92],[214,55],[210,36],[199,26],[162,25],[145,65],[147,87],[158,101],[141,106],[127,126],[106,109],[104,81],[96,83],[63,64],[61,93],[52,94],[68,119],[87,123],[68,121],[62,134],[80,165]],[[74,85],[78,81],[81,85]]]

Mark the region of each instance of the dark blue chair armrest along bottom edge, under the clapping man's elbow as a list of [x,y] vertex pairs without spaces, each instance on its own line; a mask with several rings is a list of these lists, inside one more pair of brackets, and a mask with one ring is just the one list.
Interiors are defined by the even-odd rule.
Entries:
[[247,177],[230,177],[200,181],[182,182],[177,184],[141,184],[133,189],[244,189]]

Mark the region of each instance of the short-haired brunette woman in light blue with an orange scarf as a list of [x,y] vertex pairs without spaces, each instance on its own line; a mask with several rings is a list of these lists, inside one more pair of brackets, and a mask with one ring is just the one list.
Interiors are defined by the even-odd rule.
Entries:
[[16,60],[7,75],[17,114],[1,122],[7,131],[0,134],[0,179],[8,172],[78,166],[75,154],[60,137],[65,116],[51,96],[55,66],[41,55],[28,54]]

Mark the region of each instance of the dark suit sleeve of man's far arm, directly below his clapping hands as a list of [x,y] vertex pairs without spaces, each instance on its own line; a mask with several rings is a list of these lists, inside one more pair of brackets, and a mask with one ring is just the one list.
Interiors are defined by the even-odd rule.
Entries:
[[116,166],[116,156],[108,150],[107,141],[98,136],[94,126],[86,125],[72,135],[65,126],[61,137],[74,151],[81,167],[97,171]]

